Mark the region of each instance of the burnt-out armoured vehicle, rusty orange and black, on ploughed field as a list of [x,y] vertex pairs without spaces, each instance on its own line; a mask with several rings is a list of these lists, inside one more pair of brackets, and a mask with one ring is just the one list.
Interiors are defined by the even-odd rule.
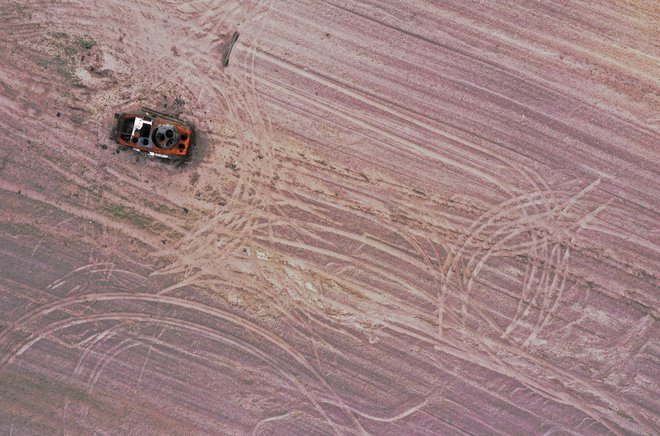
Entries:
[[193,144],[193,126],[143,107],[139,112],[115,114],[110,139],[149,156],[184,161]]

